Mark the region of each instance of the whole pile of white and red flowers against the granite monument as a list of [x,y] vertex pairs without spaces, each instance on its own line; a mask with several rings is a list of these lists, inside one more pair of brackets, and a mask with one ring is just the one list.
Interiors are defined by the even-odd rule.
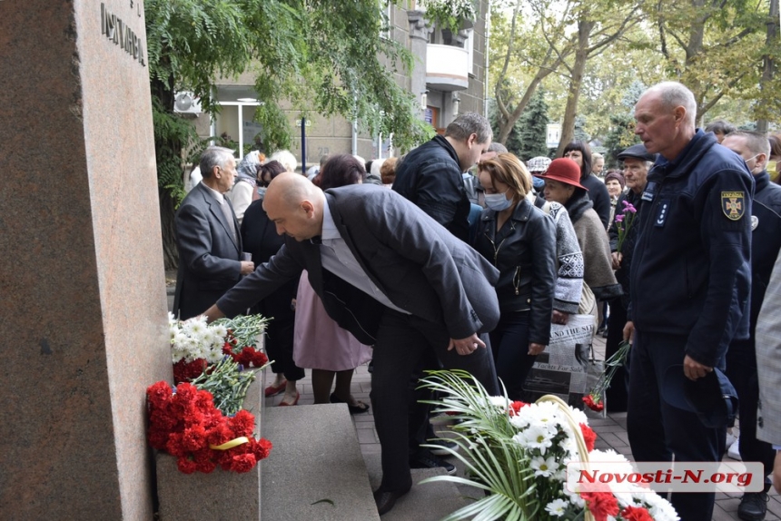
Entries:
[[[255,418],[243,410],[255,373],[268,358],[255,349],[267,319],[261,316],[184,321],[169,313],[173,377],[147,389],[149,444],[177,457],[185,474],[249,472],[272,448],[252,436]],[[246,369],[250,366],[256,370]]]

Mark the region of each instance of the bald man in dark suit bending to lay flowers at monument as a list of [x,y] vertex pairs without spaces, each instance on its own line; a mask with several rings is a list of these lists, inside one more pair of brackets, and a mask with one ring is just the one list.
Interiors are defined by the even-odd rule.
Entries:
[[479,334],[499,320],[499,273],[413,203],[376,186],[323,193],[301,175],[282,173],[263,208],[287,235],[285,244],[206,315],[232,316],[309,272],[331,319],[374,346],[371,402],[383,474],[374,499],[384,514],[412,486],[407,388],[419,360],[435,353],[446,368],[469,371],[497,394]]

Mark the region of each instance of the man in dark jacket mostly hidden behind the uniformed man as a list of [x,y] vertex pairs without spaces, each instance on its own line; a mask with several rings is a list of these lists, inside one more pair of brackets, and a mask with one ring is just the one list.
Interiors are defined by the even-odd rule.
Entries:
[[[756,318],[765,299],[770,274],[781,250],[781,186],[770,182],[765,170],[770,155],[770,143],[764,134],[753,132],[728,133],[721,143],[737,152],[754,176],[756,187],[751,211],[751,312],[749,337],[733,340],[727,350],[727,378],[737,390],[740,409],[740,437],[738,450],[743,461],[760,461],[765,476],[773,472],[776,451],[764,441],[756,439],[756,407],[759,405],[759,382],[756,375],[755,329]],[[746,492],[737,507],[737,516],[748,521],[765,518],[767,491]]]

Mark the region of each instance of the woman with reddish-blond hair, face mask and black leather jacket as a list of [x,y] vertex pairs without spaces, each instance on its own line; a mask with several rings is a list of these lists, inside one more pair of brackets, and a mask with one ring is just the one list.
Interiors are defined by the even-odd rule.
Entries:
[[475,250],[499,270],[501,316],[490,333],[497,375],[508,397],[522,398],[534,359],[548,345],[556,285],[556,229],[526,198],[531,175],[511,153],[478,163],[485,191]]

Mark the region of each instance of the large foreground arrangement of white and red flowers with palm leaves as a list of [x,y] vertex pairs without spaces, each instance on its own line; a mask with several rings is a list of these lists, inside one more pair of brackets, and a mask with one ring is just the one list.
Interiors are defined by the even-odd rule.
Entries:
[[[673,507],[648,488],[613,492],[607,485],[587,487],[567,481],[568,472],[588,470],[589,461],[631,465],[613,451],[594,449],[596,434],[583,411],[557,397],[537,403],[492,397],[465,371],[431,371],[422,386],[439,391],[438,411],[453,410],[453,427],[461,451],[446,448],[467,469],[467,477],[437,476],[481,489],[485,496],[443,519],[473,516],[483,520],[596,519],[625,521],[677,520]],[[622,488],[627,490],[627,488]],[[477,518],[475,517],[475,518]]]

